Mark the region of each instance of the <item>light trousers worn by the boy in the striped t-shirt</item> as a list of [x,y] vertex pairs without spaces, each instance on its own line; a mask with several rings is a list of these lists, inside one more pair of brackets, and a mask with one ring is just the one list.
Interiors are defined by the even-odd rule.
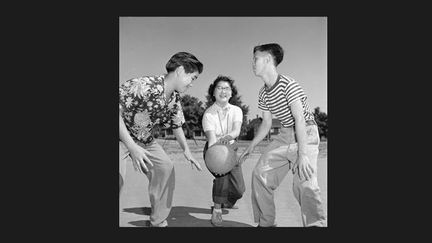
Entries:
[[[316,125],[307,125],[307,157],[314,169],[312,178],[300,180],[298,171],[292,171],[293,193],[300,204],[303,226],[325,226],[320,188],[317,180],[319,135]],[[252,209],[254,221],[262,227],[275,224],[274,190],[298,158],[298,146],[293,128],[282,128],[281,133],[265,148],[252,173]]]

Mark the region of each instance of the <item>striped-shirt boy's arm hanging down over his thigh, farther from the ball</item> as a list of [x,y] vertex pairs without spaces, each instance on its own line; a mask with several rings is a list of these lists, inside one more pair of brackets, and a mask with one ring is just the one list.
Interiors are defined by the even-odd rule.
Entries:
[[312,177],[312,173],[314,172],[312,166],[309,163],[309,158],[307,157],[307,135],[306,135],[306,121],[303,116],[303,107],[301,104],[301,100],[298,99],[291,103],[291,113],[294,117],[295,125],[295,134],[297,138],[297,146],[298,146],[298,158],[296,161],[295,169],[298,170],[298,175],[300,180],[305,178],[309,180]]

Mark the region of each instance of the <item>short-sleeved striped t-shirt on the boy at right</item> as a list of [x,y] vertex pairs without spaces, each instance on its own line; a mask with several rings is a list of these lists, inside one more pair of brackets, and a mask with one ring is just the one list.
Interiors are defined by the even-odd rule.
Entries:
[[290,105],[301,100],[305,121],[314,120],[314,115],[306,103],[307,96],[300,85],[292,78],[279,75],[271,88],[264,85],[258,95],[258,108],[270,111],[283,127],[294,125]]

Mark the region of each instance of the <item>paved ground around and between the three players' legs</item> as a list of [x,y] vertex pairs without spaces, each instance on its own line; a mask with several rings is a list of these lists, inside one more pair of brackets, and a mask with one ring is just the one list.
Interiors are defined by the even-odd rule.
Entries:
[[[168,217],[169,227],[212,227],[210,207],[213,176],[207,170],[202,158],[204,141],[188,140],[194,157],[199,160],[203,170],[192,170],[175,140],[158,140],[174,161],[176,187],[173,207]],[[223,210],[225,227],[255,227],[251,205],[251,175],[258,161],[260,151],[266,145],[262,142],[254,153],[243,163],[246,192],[236,205],[239,209]],[[241,154],[247,142],[240,143]],[[327,143],[320,145],[318,157],[318,183],[321,197],[327,212]],[[125,185],[119,200],[120,227],[147,227],[150,215],[150,202],[147,193],[148,180],[143,174],[135,172],[131,163],[127,165]],[[292,174],[285,177],[275,191],[276,223],[278,227],[301,227],[300,207],[292,193]]]

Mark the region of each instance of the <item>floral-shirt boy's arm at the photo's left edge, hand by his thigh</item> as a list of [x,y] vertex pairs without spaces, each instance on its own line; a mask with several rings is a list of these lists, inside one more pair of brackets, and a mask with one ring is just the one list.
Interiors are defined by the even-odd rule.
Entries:
[[[151,166],[153,166],[153,163],[146,155],[148,153],[147,150],[143,149],[141,146],[136,144],[135,141],[132,139],[132,137],[130,136],[126,128],[126,125],[124,124],[121,113],[119,113],[119,121],[120,121],[119,137],[120,140],[126,145],[127,149],[129,150],[135,170],[138,170],[141,173],[148,172],[148,168],[144,163],[144,161]],[[142,171],[143,169],[144,172]]]

